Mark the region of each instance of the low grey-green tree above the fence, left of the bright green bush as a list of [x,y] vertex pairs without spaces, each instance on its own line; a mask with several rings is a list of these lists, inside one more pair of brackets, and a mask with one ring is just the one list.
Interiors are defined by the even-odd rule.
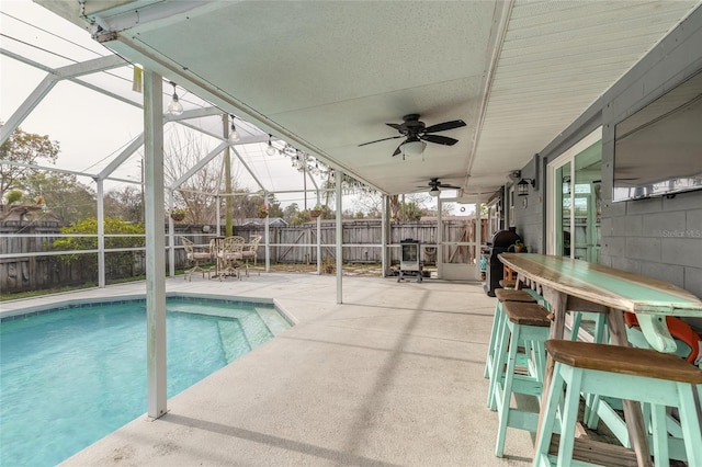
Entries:
[[43,215],[50,213],[61,224],[76,224],[97,214],[94,191],[78,182],[73,174],[36,172],[23,184],[25,196],[44,198],[46,210]]

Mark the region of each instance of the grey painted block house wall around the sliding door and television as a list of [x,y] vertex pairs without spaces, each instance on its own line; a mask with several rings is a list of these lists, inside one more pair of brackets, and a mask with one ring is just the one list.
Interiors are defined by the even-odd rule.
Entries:
[[[702,191],[612,203],[614,126],[702,70],[702,9],[694,11],[541,152],[543,167],[602,126],[601,263],[661,278],[702,296]],[[702,126],[701,126],[702,128]],[[661,155],[664,156],[664,155]],[[533,163],[522,170],[531,176]],[[517,202],[517,231],[545,251],[545,180],[528,207]],[[541,244],[539,244],[541,243]],[[534,248],[534,247],[539,248]]]

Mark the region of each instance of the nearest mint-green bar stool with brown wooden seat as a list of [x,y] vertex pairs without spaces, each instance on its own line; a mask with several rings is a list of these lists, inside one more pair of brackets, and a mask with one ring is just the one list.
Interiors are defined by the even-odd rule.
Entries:
[[[625,457],[631,449],[575,437],[581,392],[629,399],[650,405],[653,428],[652,449],[656,467],[669,466],[666,431],[666,407],[680,413],[680,428],[690,466],[702,465],[702,431],[698,417],[694,391],[702,384],[702,371],[681,358],[650,349],[619,345],[546,341],[546,351],[555,362],[553,378],[543,402],[534,466],[611,465],[613,456]],[[550,452],[552,436],[558,431],[556,411],[564,388],[557,441],[557,453]],[[588,446],[584,446],[587,443]]]

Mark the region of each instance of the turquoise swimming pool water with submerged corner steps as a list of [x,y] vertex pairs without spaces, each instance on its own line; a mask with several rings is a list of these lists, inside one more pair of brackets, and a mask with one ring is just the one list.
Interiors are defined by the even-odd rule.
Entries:
[[[167,300],[168,397],[286,329],[272,306]],[[52,466],[146,412],[144,300],[0,326],[0,465]]]

